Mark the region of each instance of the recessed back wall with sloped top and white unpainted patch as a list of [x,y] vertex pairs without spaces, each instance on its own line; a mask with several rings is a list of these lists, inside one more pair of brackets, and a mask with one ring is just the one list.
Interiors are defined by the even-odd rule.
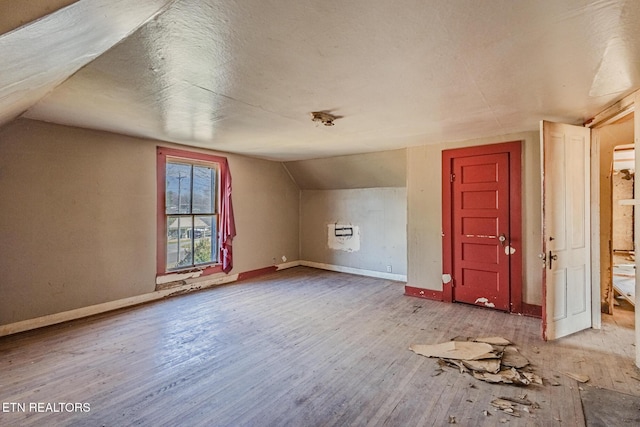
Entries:
[[[405,280],[406,159],[401,149],[285,163],[301,189],[301,260]],[[336,224],[354,235],[335,236]]]

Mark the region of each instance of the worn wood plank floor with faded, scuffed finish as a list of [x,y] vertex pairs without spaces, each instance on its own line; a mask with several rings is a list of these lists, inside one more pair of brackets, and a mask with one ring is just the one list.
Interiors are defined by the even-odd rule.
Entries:
[[[0,338],[0,425],[581,426],[579,387],[640,395],[632,312],[547,343],[539,319],[403,290],[296,267]],[[408,350],[494,335],[559,385],[487,384]],[[524,394],[540,408],[520,418],[490,405]],[[29,407],[60,402],[90,410]]]

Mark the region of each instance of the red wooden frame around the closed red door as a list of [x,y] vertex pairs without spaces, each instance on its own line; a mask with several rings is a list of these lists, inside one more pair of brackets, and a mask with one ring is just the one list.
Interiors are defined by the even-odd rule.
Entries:
[[[442,151],[442,298],[453,302],[453,159],[485,154],[509,154],[509,246],[516,252],[510,257],[509,312],[522,313],[522,141],[455,148]],[[453,278],[453,279],[452,279]]]

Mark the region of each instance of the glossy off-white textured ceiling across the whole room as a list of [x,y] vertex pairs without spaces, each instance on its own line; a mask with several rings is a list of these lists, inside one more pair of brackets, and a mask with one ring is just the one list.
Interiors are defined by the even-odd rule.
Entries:
[[640,87],[636,0],[31,3],[0,0],[0,28],[43,16],[0,36],[0,125],[297,160],[581,123]]

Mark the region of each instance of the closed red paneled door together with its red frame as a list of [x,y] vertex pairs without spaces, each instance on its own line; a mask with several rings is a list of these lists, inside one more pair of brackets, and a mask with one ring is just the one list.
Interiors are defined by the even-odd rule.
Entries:
[[521,156],[521,141],[442,152],[444,301],[540,316],[522,301]]

